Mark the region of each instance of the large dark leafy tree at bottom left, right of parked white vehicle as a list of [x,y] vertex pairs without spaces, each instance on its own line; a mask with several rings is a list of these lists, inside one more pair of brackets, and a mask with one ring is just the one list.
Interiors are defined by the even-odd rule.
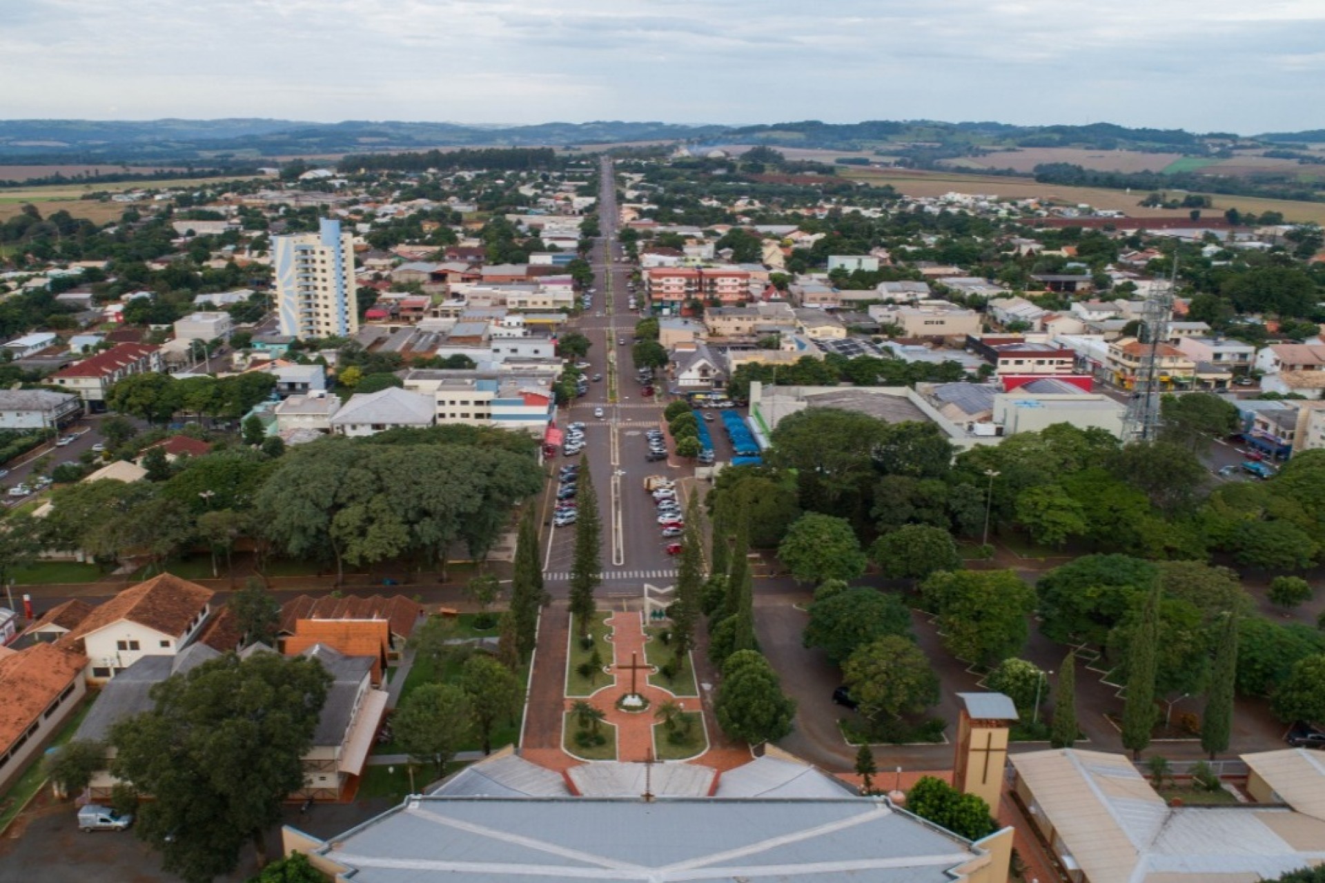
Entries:
[[305,785],[330,675],[310,657],[227,654],[152,687],[155,708],[111,728],[111,773],[152,800],[138,834],[166,870],[204,883],[229,874]]

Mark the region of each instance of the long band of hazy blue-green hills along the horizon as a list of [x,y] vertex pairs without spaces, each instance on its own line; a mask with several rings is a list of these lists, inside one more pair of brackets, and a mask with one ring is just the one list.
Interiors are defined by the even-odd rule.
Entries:
[[[568,147],[616,142],[690,142],[814,147],[909,155],[920,165],[1016,147],[1142,150],[1206,155],[1235,135],[1181,128],[1012,126],[998,122],[799,120],[759,126],[681,126],[599,120],[466,126],[400,120],[310,123],[290,119],[0,120],[0,164],[248,164],[273,156],[419,151],[433,147]],[[1325,142],[1325,130],[1256,136],[1267,146]],[[910,151],[910,154],[908,154]]]

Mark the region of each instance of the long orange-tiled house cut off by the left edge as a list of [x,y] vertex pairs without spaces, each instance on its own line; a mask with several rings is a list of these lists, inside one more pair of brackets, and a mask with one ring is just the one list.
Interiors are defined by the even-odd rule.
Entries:
[[82,654],[36,643],[0,651],[0,792],[38,759],[87,690]]

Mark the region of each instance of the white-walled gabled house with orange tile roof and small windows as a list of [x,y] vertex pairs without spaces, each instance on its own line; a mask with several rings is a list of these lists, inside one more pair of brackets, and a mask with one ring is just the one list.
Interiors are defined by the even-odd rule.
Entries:
[[147,655],[174,655],[212,612],[211,589],[162,573],[93,608],[56,646],[86,657],[91,683],[113,679]]

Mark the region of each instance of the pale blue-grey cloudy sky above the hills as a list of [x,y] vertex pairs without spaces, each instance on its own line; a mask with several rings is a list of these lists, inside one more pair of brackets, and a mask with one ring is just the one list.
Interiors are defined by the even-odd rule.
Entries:
[[1325,0],[0,0],[0,118],[1325,126]]

